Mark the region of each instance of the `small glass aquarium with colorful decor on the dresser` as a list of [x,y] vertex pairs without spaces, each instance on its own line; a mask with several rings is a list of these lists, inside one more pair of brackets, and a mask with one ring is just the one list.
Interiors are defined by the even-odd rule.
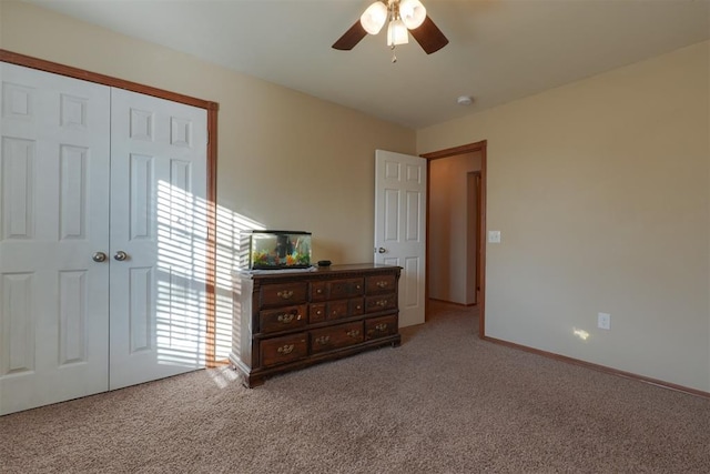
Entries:
[[242,231],[241,266],[248,270],[307,269],[311,232]]

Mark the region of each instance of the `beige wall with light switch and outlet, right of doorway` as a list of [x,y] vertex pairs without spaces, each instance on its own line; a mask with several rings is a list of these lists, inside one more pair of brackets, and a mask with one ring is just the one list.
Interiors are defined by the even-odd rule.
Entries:
[[418,153],[488,141],[488,335],[710,391],[708,58],[700,43],[418,131]]

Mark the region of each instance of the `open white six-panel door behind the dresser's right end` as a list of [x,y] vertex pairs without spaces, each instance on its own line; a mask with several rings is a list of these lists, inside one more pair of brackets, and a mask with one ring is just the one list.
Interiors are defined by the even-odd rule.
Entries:
[[425,321],[426,160],[375,151],[375,263],[399,265],[399,326]]

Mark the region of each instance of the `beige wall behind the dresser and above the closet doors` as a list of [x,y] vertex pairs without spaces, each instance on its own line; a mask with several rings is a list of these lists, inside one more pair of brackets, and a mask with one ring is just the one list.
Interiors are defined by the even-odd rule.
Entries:
[[229,331],[230,244],[250,221],[313,232],[313,256],[373,261],[375,149],[415,151],[415,131],[14,1],[0,48],[220,103],[220,312]]

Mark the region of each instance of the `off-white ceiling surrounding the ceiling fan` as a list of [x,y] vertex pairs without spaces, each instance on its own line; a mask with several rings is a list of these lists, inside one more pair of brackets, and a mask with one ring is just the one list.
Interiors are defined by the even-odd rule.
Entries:
[[710,38],[710,0],[422,0],[450,42],[393,64],[384,31],[331,48],[372,0],[26,1],[412,128]]

